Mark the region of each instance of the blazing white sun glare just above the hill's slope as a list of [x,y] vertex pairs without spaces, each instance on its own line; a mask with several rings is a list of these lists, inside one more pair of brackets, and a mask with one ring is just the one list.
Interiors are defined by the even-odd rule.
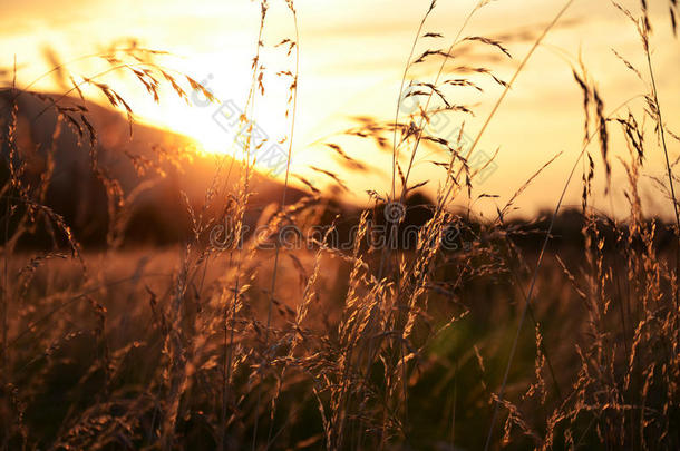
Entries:
[[142,116],[153,118],[155,126],[192,138],[198,151],[225,154],[239,160],[250,158],[262,171],[280,175],[281,166],[285,167],[292,125],[290,80],[275,73],[268,77],[265,96],[258,91],[249,102],[252,80],[247,71],[198,61],[187,66],[192,67],[187,73],[196,73],[196,81],[216,100],[210,101],[200,90],[188,91],[188,101],[169,95],[162,105],[146,106],[148,111],[143,108]]

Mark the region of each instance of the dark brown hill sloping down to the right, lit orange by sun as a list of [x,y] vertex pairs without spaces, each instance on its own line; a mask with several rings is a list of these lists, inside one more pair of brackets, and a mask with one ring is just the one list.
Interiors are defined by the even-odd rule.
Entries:
[[[243,165],[229,156],[201,153],[192,139],[168,130],[129,125],[119,111],[91,101],[1,90],[2,180],[9,176],[12,99],[17,102],[17,159],[25,164],[21,178],[37,187],[49,175],[43,204],[61,215],[85,245],[105,242],[113,216],[126,241],[166,244],[182,239],[192,227],[184,194],[200,212],[206,193],[218,180],[211,206],[218,212],[243,175]],[[60,111],[51,99],[59,99]],[[64,120],[57,127],[60,112]],[[96,140],[90,141],[89,126]],[[254,224],[266,205],[280,202],[283,186],[259,173],[249,186],[246,224]],[[289,202],[302,196],[299,189],[288,189]]]

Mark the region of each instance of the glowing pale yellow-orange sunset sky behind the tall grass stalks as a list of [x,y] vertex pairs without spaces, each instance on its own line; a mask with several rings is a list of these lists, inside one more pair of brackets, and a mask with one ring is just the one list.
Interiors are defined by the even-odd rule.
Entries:
[[[205,82],[221,100],[244,105],[250,84],[251,59],[255,51],[260,6],[249,0],[178,1],[133,0],[54,2],[1,0],[0,68],[9,68],[17,58],[19,85],[49,70],[43,49],[49,46],[62,61],[96,53],[116,40],[135,38],[144,47],[167,50],[167,66]],[[430,48],[447,48],[460,29],[464,18],[477,1],[439,0],[424,31],[438,32],[441,39],[421,39],[416,52]],[[429,0],[298,0],[299,27],[299,94],[293,135],[292,170],[322,185],[330,182],[310,166],[337,171],[350,187],[349,202],[365,203],[366,190],[389,193],[391,187],[391,153],[376,148],[369,140],[342,136],[356,125],[357,116],[394,120],[399,85],[418,24]],[[639,2],[623,2],[639,13]],[[519,61],[543,28],[562,8],[557,0],[497,0],[486,4],[473,17],[463,36],[485,36],[497,39],[508,49],[512,59],[483,45],[465,45],[455,51],[456,65],[484,66],[502,79],[509,79]],[[680,41],[673,38],[668,16],[668,1],[650,2],[654,33],[652,58],[660,102],[671,130],[680,130]],[[263,61],[265,96],[258,100],[255,120],[272,139],[290,135],[284,117],[288,81],[276,77],[280,70],[293,70],[294,52],[272,49],[283,38],[294,36],[292,18],[284,1],[272,1],[263,36],[268,48]],[[502,104],[478,146],[479,158],[495,154],[496,169],[475,184],[474,206],[489,216],[503,206],[532,175],[555,155],[548,166],[516,203],[519,214],[532,215],[552,208],[576,160],[583,143],[582,97],[572,76],[572,67],[581,58],[605,101],[605,110],[645,94],[645,85],[624,68],[612,49],[644,69],[640,39],[632,24],[609,1],[575,0],[567,13],[551,31],[519,75]],[[453,67],[453,66],[451,66]],[[89,60],[69,66],[72,73],[87,76],[97,67]],[[433,81],[437,65],[415,66],[408,79]],[[648,79],[647,77],[644,77]],[[476,136],[502,94],[502,87],[489,77],[477,77],[483,94],[460,89],[451,91],[456,102],[469,106],[475,116],[449,115],[439,133],[450,135],[465,121],[465,134]],[[136,86],[125,79],[122,92],[128,92],[139,120],[197,140],[206,151],[224,151],[229,138],[213,120],[216,106],[186,106],[178,99],[164,98],[161,105],[149,101]],[[56,89],[49,78],[33,88]],[[401,107],[409,109],[408,102]],[[630,108],[640,111],[640,97]],[[412,107],[412,105],[411,105]],[[621,110],[625,112],[625,109]],[[401,117],[404,119],[404,116]],[[648,120],[649,121],[649,120]],[[663,177],[663,157],[651,135],[651,155],[644,174]],[[619,135],[619,134],[616,134]],[[613,138],[613,197],[604,196],[605,180],[595,179],[595,207],[608,214],[624,212],[625,173],[616,156],[628,160],[628,149]],[[323,143],[339,144],[352,157],[375,169],[357,174],[343,168]],[[671,158],[680,147],[670,140]],[[412,183],[429,180],[436,189],[443,171],[428,161],[437,157],[433,149],[422,148],[415,158]],[[476,150],[477,151],[477,150]],[[599,149],[591,148],[596,169],[602,173]],[[404,150],[408,161],[407,149]],[[579,166],[581,168],[581,165]],[[580,205],[581,169],[572,182],[567,205]],[[651,184],[650,184],[651,185]],[[498,195],[483,197],[480,194]],[[670,203],[658,190],[645,188],[648,214],[668,216]]]

